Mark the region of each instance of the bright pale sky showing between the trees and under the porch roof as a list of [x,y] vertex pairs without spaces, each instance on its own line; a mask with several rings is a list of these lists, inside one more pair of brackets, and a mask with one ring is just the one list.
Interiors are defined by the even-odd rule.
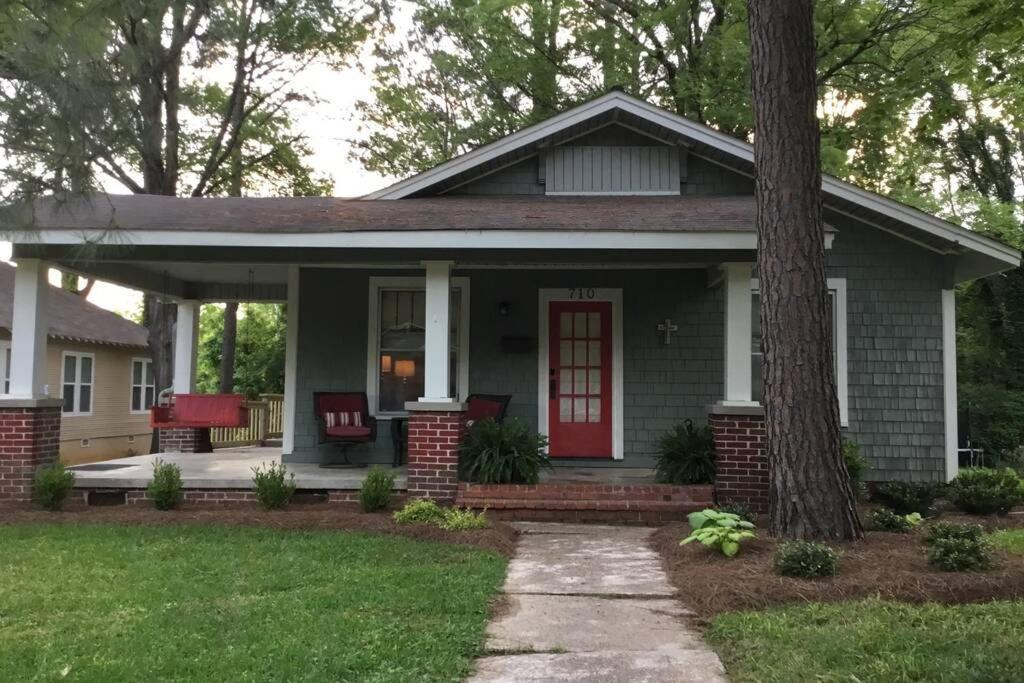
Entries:
[[[371,50],[360,55],[361,66],[369,71],[372,66]],[[384,187],[398,178],[390,178],[365,170],[358,162],[349,159],[358,121],[355,103],[371,96],[373,82],[357,65],[335,70],[327,65],[313,65],[299,77],[298,89],[314,94],[319,101],[294,113],[294,125],[309,139],[313,154],[306,160],[316,175],[334,180],[336,197],[358,197]],[[113,193],[125,193],[116,182],[104,183]],[[10,260],[10,243],[0,242],[0,260]],[[50,282],[59,286],[60,274],[51,270]],[[98,282],[89,294],[89,301],[116,313],[131,314],[139,310],[142,295],[110,283]]]

